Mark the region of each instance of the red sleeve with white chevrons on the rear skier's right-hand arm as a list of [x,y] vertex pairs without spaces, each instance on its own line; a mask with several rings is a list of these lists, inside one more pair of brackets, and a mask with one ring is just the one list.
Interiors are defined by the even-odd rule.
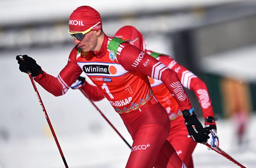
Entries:
[[[171,56],[159,56],[159,61],[165,64],[168,68],[173,69],[177,73],[183,87],[186,87],[189,90],[195,92],[195,95],[202,108],[203,117],[214,117],[212,102],[206,84],[187,68],[176,62]],[[214,122],[211,124],[216,123]]]

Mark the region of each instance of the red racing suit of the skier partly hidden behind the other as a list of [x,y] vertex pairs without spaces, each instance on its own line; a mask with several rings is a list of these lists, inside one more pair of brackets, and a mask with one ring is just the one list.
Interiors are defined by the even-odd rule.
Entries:
[[[146,50],[146,53],[155,57],[162,62],[168,68],[173,69],[182,85],[191,91],[195,92],[197,99],[199,100],[202,108],[204,118],[208,116],[214,116],[213,107],[211,105],[211,99],[209,97],[208,89],[205,83],[194,75],[187,68],[178,64],[171,56],[155,53],[150,50]],[[171,129],[168,135],[168,141],[173,145],[177,154],[188,168],[193,168],[192,153],[195,149],[196,142],[191,138],[188,138],[188,131],[184,123],[182,112],[179,110],[179,106],[174,97],[163,84],[162,81],[155,80],[149,77],[149,81],[154,92],[155,98],[161,103],[161,105],[168,112],[168,116],[171,121]],[[205,122],[205,124],[209,124]],[[215,122],[211,124],[216,124]]]

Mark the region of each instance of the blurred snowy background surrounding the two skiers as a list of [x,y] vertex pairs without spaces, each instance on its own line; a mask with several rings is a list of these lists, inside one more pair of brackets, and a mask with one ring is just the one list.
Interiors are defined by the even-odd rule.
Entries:
[[[255,0],[0,0],[0,168],[64,167],[31,82],[19,71],[15,56],[32,56],[57,76],[74,47],[67,33],[69,15],[82,5],[101,13],[108,36],[133,25],[148,49],[175,57],[201,77],[219,118],[220,148],[244,166],[255,167]],[[80,91],[54,97],[37,86],[70,168],[125,167],[130,149]],[[195,94],[187,92],[203,123]],[[132,144],[108,101],[96,105]],[[237,167],[202,144],[193,157],[195,168]]]

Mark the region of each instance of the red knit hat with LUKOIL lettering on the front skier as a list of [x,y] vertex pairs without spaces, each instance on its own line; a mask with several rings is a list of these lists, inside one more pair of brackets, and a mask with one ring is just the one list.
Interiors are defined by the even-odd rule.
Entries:
[[[90,6],[80,6],[76,8],[69,17],[69,30],[70,31],[85,31],[101,22],[101,15],[98,11]],[[92,31],[100,30],[102,22],[92,29]]]

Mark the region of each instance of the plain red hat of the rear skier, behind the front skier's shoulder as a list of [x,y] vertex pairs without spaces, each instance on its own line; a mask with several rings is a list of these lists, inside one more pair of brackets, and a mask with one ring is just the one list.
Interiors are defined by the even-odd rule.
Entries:
[[115,37],[131,40],[135,47],[141,49],[142,51],[145,51],[146,49],[146,41],[144,40],[143,35],[134,26],[125,25],[121,27],[118,31],[116,31]]

